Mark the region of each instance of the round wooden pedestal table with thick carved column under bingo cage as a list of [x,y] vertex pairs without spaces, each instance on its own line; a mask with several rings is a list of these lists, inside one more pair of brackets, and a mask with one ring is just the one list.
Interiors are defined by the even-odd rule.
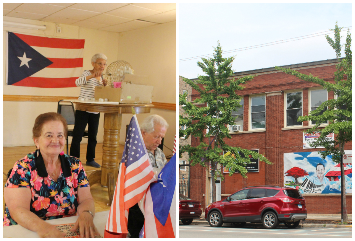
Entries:
[[[120,130],[122,123],[122,114],[132,114],[134,108],[136,114],[151,112],[152,104],[121,104],[118,102],[93,102],[80,100],[65,100],[76,103],[76,110],[104,112],[104,143],[101,170],[94,171],[89,177],[89,184],[100,183],[103,187],[109,187],[108,175],[113,178],[114,186],[118,177],[118,167],[122,158],[119,153]],[[109,194],[111,188],[109,187]],[[112,193],[113,195],[113,193]],[[109,195],[110,196],[110,195]],[[110,197],[111,203],[111,197]]]

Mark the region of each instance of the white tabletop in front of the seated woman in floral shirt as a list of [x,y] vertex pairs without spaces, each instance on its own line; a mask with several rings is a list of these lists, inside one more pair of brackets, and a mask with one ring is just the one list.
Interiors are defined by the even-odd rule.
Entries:
[[[101,236],[104,236],[105,225],[107,222],[107,217],[109,215],[109,212],[110,211],[103,211],[103,212],[95,213],[94,224],[97,230],[99,231],[99,233],[101,234]],[[58,218],[58,219],[47,220],[45,222],[48,222],[53,225],[69,224],[69,223],[75,223],[78,217],[79,216]],[[38,238],[39,237],[36,232],[23,228],[21,225],[5,226],[2,228],[2,232],[3,232],[2,237],[4,238],[25,238],[25,237]]]

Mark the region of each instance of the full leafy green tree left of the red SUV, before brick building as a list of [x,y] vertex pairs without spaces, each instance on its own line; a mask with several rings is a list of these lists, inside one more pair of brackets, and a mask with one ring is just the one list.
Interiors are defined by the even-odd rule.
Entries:
[[[186,129],[180,129],[179,136],[188,138],[192,135],[200,140],[200,145],[196,147],[191,145],[179,146],[179,155],[181,157],[183,152],[188,152],[191,166],[201,164],[208,172],[209,163],[211,164],[211,175],[214,177],[211,178],[213,202],[216,200],[215,180],[217,175],[219,174],[223,178],[220,169],[218,169],[218,164],[230,168],[229,175],[237,171],[243,177],[246,177],[245,166],[250,163],[250,155],[254,159],[259,158],[260,161],[272,164],[257,152],[225,144],[224,139],[231,138],[226,125],[233,125],[235,119],[231,116],[231,112],[241,107],[239,104],[241,97],[236,95],[235,91],[244,89],[245,86],[242,84],[253,79],[253,77],[229,79],[233,74],[231,63],[234,57],[223,58],[219,42],[214,51],[213,58],[202,58],[203,63],[200,61],[197,63],[202,71],[207,74],[206,76],[198,76],[198,80],[195,82],[184,78],[184,81],[200,94],[200,97],[194,102],[203,105],[203,107],[187,102],[186,95],[179,95],[179,105],[182,105],[184,114],[187,115],[184,117],[180,114],[179,125],[185,125]],[[202,88],[198,84],[201,84]],[[207,103],[207,106],[205,106],[205,103]],[[205,129],[208,129],[206,134],[204,134]],[[228,151],[231,155],[222,155],[223,152]],[[244,153],[247,158],[241,157],[239,152]]]

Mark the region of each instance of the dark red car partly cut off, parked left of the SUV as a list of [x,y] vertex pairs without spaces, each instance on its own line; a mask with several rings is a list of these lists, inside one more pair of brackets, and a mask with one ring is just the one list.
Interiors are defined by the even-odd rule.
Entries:
[[179,194],[179,220],[185,225],[192,223],[194,218],[200,218],[202,214],[201,203]]

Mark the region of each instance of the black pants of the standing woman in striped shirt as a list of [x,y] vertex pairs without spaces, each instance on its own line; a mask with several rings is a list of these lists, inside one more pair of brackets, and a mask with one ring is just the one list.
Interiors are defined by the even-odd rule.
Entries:
[[86,150],[86,162],[94,161],[99,119],[100,113],[93,114],[86,111],[75,111],[75,124],[73,129],[73,139],[70,146],[70,156],[80,158],[80,142],[83,139],[84,131],[86,125],[88,124],[88,147]]

